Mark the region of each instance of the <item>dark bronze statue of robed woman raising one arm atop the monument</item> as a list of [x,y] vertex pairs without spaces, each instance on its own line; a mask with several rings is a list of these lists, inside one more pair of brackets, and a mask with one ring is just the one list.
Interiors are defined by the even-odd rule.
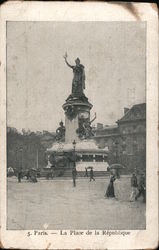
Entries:
[[73,69],[73,80],[72,80],[72,96],[82,97],[84,95],[83,90],[85,89],[85,71],[84,66],[80,64],[80,59],[75,60],[76,65],[72,66],[67,61],[67,53],[64,55],[66,64]]

